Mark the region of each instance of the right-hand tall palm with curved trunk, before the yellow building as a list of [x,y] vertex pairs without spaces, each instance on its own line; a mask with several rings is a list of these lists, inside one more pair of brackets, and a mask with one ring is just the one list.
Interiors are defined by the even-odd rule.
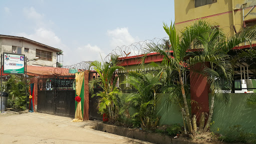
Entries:
[[228,52],[234,46],[244,41],[251,43],[252,40],[255,40],[256,36],[255,28],[249,27],[226,39],[220,28],[213,28],[208,22],[205,26],[208,30],[198,33],[195,38],[195,44],[199,45],[200,48],[198,48],[197,51],[192,52],[192,55],[195,55],[194,57],[190,57],[189,60],[187,60],[190,67],[198,62],[209,62],[210,64],[209,67],[205,66],[203,69],[203,73],[207,76],[211,91],[209,116],[203,128],[203,132],[208,129],[211,122],[214,99],[216,98],[218,101],[224,102],[225,104],[231,100],[230,91],[233,79],[233,67],[230,62],[231,55],[229,55]]

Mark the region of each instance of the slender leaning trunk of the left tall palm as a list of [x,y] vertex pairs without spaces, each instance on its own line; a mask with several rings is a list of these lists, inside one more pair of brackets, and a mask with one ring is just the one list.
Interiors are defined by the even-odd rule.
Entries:
[[181,85],[182,97],[183,97],[183,101],[184,101],[184,107],[185,107],[185,114],[186,114],[186,122],[187,122],[187,126],[188,126],[188,131],[189,131],[189,133],[194,135],[193,130],[192,130],[191,118],[189,116],[189,109],[188,109],[188,105],[187,105],[187,102],[186,102],[186,95],[185,95],[184,85],[183,85],[183,81],[182,81],[182,77],[181,77],[180,71],[178,71],[178,75],[179,75],[179,82],[180,82],[180,85]]

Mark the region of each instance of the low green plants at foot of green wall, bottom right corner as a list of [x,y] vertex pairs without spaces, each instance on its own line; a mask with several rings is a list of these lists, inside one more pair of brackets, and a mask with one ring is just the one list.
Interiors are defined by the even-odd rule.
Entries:
[[256,143],[256,134],[244,132],[241,125],[230,126],[228,130],[225,131],[223,136],[218,137],[219,140],[224,142],[242,142],[242,143]]

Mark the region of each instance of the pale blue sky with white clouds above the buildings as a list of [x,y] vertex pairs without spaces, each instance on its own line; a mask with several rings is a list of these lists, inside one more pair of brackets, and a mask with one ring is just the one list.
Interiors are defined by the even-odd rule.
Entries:
[[174,0],[1,0],[0,10],[0,34],[62,49],[63,65],[166,37],[174,21]]

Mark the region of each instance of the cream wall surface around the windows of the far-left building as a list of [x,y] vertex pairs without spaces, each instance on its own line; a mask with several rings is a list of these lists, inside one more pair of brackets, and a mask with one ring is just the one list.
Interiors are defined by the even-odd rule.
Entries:
[[[28,61],[27,65],[41,65],[41,66],[53,66],[56,67],[56,51],[53,51],[51,49],[45,48],[43,46],[27,42],[24,40],[19,39],[11,39],[11,38],[0,38],[0,44],[1,44],[1,50],[0,52],[9,52],[12,53],[12,46],[18,46],[22,47],[22,54],[25,54],[25,56],[28,59],[35,58],[35,51],[36,49],[46,50],[52,52],[52,60],[36,60],[36,61]],[[24,48],[29,48],[28,52],[24,51]]]

